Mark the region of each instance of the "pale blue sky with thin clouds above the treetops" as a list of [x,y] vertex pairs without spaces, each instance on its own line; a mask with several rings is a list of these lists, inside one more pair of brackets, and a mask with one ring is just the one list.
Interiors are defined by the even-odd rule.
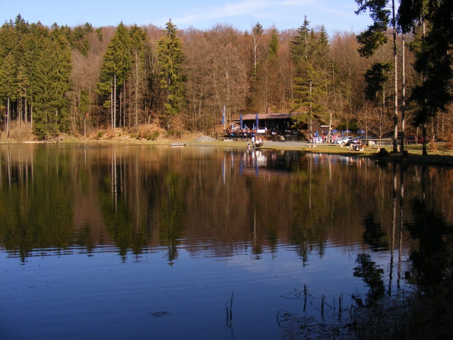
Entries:
[[0,20],[20,15],[29,23],[95,27],[154,24],[164,27],[169,18],[179,29],[209,29],[217,23],[250,29],[256,22],[264,28],[297,28],[307,15],[310,26],[324,24],[334,30],[360,32],[371,24],[368,15],[356,15],[354,0],[0,0]]

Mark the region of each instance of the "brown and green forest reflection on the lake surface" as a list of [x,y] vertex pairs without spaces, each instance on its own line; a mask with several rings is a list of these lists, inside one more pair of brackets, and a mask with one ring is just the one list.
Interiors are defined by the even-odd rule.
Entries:
[[[313,251],[323,257],[328,242],[363,240],[371,251],[390,249],[391,271],[397,230],[399,253],[404,243],[398,225],[413,225],[411,216],[432,206],[404,213],[405,201],[426,196],[426,183],[420,196],[412,181],[405,197],[404,177],[419,178],[420,170],[401,170],[398,220],[396,166],[389,173],[368,159],[336,155],[3,146],[0,156],[1,243],[23,260],[33,249],[77,245],[92,252],[114,244],[123,261],[129,251],[164,247],[172,265],[182,244],[232,256],[249,243],[259,259],[265,249],[275,253],[278,243],[289,243],[307,264]],[[451,170],[429,171],[451,176]],[[431,209],[450,203],[440,183],[430,183],[430,193],[440,196]]]

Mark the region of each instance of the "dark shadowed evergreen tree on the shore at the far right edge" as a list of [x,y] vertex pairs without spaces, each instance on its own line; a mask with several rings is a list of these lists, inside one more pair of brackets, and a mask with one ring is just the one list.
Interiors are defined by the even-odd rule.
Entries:
[[[422,75],[410,102],[417,104],[414,124],[423,129],[423,154],[426,150],[426,127],[440,111],[447,111],[453,101],[453,3],[441,0],[401,0],[399,22],[403,32],[421,26],[412,49],[416,52],[414,68]],[[426,32],[429,23],[429,32]]]

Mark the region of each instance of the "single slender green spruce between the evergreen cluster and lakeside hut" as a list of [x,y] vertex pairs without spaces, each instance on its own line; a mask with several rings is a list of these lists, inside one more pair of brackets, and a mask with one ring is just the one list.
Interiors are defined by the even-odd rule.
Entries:
[[183,44],[176,35],[177,28],[171,19],[166,24],[167,34],[158,41],[160,87],[164,90],[164,114],[167,129],[170,117],[176,115],[184,106]]

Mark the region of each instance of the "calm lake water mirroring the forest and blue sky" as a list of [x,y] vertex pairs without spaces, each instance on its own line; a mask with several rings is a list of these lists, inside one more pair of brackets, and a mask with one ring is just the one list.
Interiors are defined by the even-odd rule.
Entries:
[[295,151],[0,145],[0,338],[329,338],[441,280],[452,186]]

